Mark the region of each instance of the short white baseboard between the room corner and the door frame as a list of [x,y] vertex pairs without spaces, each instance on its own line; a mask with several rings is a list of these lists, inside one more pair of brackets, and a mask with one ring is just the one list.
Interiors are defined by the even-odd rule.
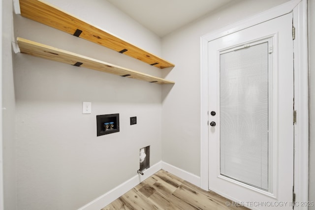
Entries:
[[165,163],[165,162],[162,162],[162,169],[165,170],[165,171],[168,171],[169,173],[183,179],[183,180],[186,180],[186,181],[189,181],[190,183],[200,187],[200,177],[194,175],[194,174],[191,174],[187,171],[184,171],[183,169],[180,169],[180,168],[177,168],[176,166],[173,166],[171,164],[168,164],[168,163]]

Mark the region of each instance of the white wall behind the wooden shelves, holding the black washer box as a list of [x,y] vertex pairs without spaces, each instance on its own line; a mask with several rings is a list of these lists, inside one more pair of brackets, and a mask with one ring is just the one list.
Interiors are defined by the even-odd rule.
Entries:
[[[156,55],[158,36],[104,0],[49,0]],[[160,70],[15,15],[15,35],[160,76]],[[139,149],[161,160],[161,86],[16,54],[17,209],[74,210],[137,174]],[[92,114],[82,114],[82,102]],[[96,115],[120,114],[120,132],[96,137]],[[137,116],[130,126],[129,117]]]

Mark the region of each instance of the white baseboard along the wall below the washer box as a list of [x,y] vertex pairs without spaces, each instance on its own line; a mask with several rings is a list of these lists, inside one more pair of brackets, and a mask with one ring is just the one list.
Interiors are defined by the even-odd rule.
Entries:
[[120,184],[119,186],[115,187],[114,189],[108,191],[104,195],[96,198],[94,201],[88,203],[87,205],[81,207],[78,210],[100,210],[107,206],[108,204],[115,201],[120,196],[124,195],[130,189],[135,187],[141,181],[146,180],[150,176],[157,173],[159,170],[162,169],[162,161],[156,163],[155,165],[151,166],[150,168],[144,171],[144,175],[136,175],[131,179],[125,181],[124,183]]

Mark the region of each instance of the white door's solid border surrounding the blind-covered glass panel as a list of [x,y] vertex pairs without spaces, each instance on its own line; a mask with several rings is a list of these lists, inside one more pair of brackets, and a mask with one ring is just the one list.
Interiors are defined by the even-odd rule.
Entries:
[[[209,189],[250,208],[264,209],[265,205],[282,205],[292,209],[293,187],[293,41],[292,13],[261,23],[209,42]],[[220,54],[269,41],[272,68],[269,71],[269,190],[245,184],[220,171]],[[272,46],[270,46],[272,43]],[[246,45],[246,46],[244,46]],[[232,49],[230,49],[232,48]],[[270,66],[271,67],[271,66]],[[271,155],[270,155],[271,154]],[[270,162],[272,160],[272,162]],[[268,203],[253,203],[268,202]]]

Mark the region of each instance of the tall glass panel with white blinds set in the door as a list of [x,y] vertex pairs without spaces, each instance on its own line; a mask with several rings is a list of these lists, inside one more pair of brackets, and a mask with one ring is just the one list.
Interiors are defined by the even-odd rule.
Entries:
[[220,56],[221,175],[268,190],[268,42]]

